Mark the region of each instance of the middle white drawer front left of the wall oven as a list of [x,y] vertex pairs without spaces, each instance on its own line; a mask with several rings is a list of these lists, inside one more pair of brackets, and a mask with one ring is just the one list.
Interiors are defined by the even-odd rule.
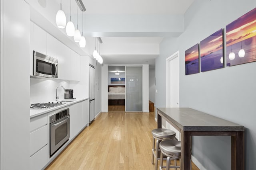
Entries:
[[48,143],[47,125],[30,133],[30,156]]

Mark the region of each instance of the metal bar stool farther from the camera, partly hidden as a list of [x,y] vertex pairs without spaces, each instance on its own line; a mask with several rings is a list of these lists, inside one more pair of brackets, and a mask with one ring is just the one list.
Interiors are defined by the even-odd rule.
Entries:
[[[156,158],[156,170],[158,169],[158,160],[160,160],[159,156],[159,144],[161,141],[173,139],[175,137],[175,132],[170,129],[153,129],[153,147],[152,147],[152,164],[154,164],[154,158]],[[155,147],[156,142],[156,147]],[[156,151],[156,153],[155,153]]]

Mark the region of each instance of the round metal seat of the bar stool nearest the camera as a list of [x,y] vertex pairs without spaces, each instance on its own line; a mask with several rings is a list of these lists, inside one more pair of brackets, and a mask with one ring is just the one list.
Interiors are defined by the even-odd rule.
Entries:
[[174,156],[181,156],[181,142],[175,141],[175,140],[166,140],[160,142],[159,148],[162,150],[162,152]]

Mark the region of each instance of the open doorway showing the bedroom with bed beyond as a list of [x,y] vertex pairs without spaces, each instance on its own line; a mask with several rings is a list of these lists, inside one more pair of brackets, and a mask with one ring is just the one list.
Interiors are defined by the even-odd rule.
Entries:
[[108,66],[108,112],[125,111],[125,66]]

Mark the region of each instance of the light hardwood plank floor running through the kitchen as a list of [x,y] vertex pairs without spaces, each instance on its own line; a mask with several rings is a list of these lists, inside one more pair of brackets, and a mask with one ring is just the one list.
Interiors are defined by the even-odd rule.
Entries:
[[[47,170],[154,170],[154,112],[101,113]],[[192,170],[199,170],[192,166]]]

